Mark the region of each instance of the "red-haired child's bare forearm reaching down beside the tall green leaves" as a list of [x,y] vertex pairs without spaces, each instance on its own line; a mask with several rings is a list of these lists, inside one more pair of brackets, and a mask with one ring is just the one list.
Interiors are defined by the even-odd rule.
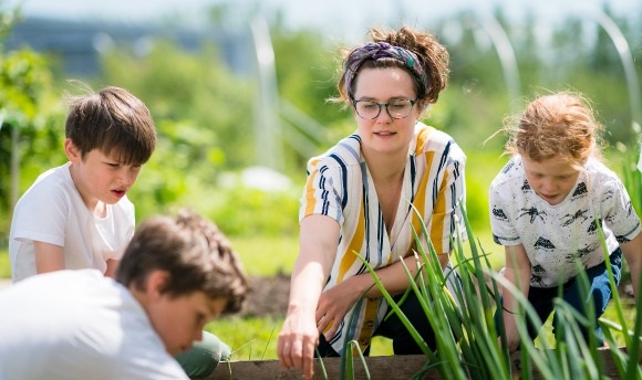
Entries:
[[[530,287],[530,261],[526,254],[522,244],[506,245],[504,247],[506,255],[506,270],[504,277],[508,279],[515,287],[521,291],[521,294],[528,298],[528,289]],[[503,307],[504,307],[504,328],[506,330],[506,340],[509,351],[515,351],[519,347],[519,332],[517,330],[517,318],[525,316],[519,312],[519,303],[508,291],[503,288]]]

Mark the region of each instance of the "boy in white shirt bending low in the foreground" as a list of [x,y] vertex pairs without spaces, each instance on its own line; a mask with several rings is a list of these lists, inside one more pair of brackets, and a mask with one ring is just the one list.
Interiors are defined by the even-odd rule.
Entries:
[[0,379],[187,379],[172,356],[239,310],[247,289],[216,225],[188,212],[152,218],[115,281],[58,271],[0,293]]

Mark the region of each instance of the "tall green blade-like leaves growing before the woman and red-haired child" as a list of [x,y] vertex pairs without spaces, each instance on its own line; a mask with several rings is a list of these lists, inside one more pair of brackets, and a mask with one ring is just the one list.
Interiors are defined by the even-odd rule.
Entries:
[[[520,377],[524,379],[534,378],[534,369],[543,379],[596,379],[604,373],[601,358],[598,357],[596,338],[589,337],[586,341],[579,329],[580,324],[589,330],[594,329],[594,321],[580,315],[570,305],[558,298],[556,303],[556,315],[560,319],[560,328],[563,338],[557,341],[556,349],[551,349],[547,339],[540,339],[541,348],[536,347],[529,338],[527,321],[534,323],[541,328],[537,313],[530,306],[521,291],[507,282],[501,275],[493,271],[486,253],[475,243],[470,224],[463,209],[466,222],[466,232],[469,242],[469,253],[466,254],[460,239],[455,240],[455,250],[452,260],[456,263],[460,284],[446,288],[447,278],[444,277],[438,258],[432,245],[429,252],[425,252],[418,244],[417,274],[412,275],[406,268],[406,275],[411,283],[407,292],[414,292],[420,298],[420,303],[426,316],[426,324],[429,324],[436,338],[436,348],[433,350],[418,336],[414,326],[401,312],[385,287],[379,281],[375,271],[361,256],[359,257],[371,272],[376,285],[383,296],[389,302],[392,313],[404,323],[415,341],[426,356],[424,369],[416,373],[414,378],[420,379],[423,373],[431,368],[436,368],[445,379],[509,379]],[[427,231],[422,231],[426,234]],[[457,233],[457,236],[459,234]],[[603,240],[603,235],[602,235]],[[605,249],[605,244],[604,244]],[[604,251],[608,257],[608,251]],[[580,265],[578,263],[578,265]],[[405,267],[405,265],[404,265]],[[640,331],[642,328],[642,315],[638,314],[634,320],[634,330],[628,332],[628,318],[624,316],[618,289],[614,283],[609,261],[607,260],[612,292],[614,293],[613,305],[620,325],[600,319],[604,329],[607,341],[613,361],[618,368],[618,374],[622,379],[633,379],[642,376],[642,370],[638,366],[638,352],[640,345]],[[589,284],[586,273],[580,271],[578,275],[580,292],[586,296]],[[511,359],[506,347],[506,335],[503,325],[496,326],[494,314],[496,305],[499,305],[499,289],[510,292],[519,303],[519,313],[524,318],[517,319],[517,327],[521,337],[521,363],[512,372]],[[403,299],[400,300],[400,304]],[[588,315],[593,313],[589,304]],[[501,320],[501,318],[500,318]],[[621,334],[624,338],[627,351],[619,348],[615,335]],[[629,336],[631,334],[631,336]],[[497,338],[499,337],[499,339]],[[628,352],[628,353],[627,353]],[[579,360],[581,358],[581,360]],[[345,365],[344,365],[345,366]]]

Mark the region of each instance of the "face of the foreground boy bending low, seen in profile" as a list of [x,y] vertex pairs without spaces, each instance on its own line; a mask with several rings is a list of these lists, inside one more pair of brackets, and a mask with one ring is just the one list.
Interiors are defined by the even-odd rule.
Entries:
[[165,349],[176,356],[203,339],[203,328],[224,310],[226,304],[226,298],[211,299],[204,292],[178,297],[163,294],[148,305],[147,312]]

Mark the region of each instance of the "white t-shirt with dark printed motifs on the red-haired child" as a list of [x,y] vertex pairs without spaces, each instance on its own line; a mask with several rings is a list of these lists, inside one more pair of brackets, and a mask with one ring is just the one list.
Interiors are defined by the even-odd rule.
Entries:
[[584,268],[604,261],[596,214],[609,254],[641,231],[622,181],[593,158],[567,198],[550,205],[532,191],[521,158],[514,157],[493,180],[489,203],[493,239],[501,245],[524,245],[534,287],[557,286],[574,277],[576,258]]

